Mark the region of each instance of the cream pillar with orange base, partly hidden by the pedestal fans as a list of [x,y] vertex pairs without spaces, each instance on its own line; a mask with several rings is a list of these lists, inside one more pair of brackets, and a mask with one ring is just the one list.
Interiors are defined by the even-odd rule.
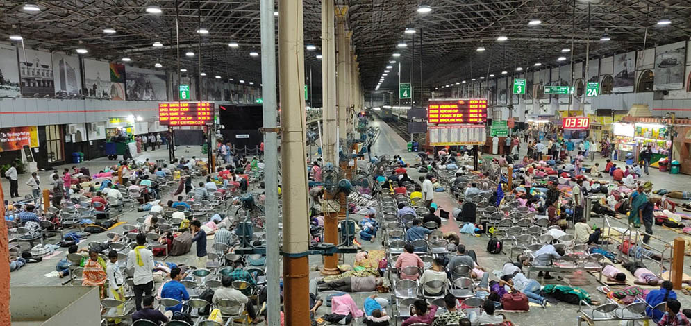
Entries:
[[[338,124],[336,119],[336,44],[334,37],[333,0],[322,1],[322,108],[324,110],[324,141],[322,153],[324,163],[338,166]],[[333,199],[324,193],[324,200]],[[331,205],[324,204],[324,243],[338,244],[338,216],[336,212],[326,212]],[[324,256],[323,275],[339,274],[338,254]]]

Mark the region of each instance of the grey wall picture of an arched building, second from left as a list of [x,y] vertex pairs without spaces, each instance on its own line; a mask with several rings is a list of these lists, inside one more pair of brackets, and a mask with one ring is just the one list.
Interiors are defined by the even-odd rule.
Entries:
[[26,49],[19,53],[22,96],[53,96],[53,60],[50,52]]

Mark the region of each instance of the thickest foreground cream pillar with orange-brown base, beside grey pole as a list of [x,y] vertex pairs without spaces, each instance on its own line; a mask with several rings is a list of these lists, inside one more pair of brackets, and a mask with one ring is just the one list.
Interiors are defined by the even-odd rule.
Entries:
[[[283,175],[283,302],[285,326],[310,320],[309,228],[305,162],[305,53],[302,1],[278,2],[278,74]],[[267,215],[268,216],[268,215]],[[275,218],[276,216],[268,216]]]

